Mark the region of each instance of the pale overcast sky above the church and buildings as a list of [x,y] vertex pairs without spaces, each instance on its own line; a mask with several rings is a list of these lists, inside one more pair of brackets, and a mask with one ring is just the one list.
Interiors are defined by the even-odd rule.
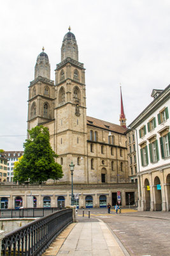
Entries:
[[[170,83],[169,0],[1,1],[0,148],[22,150],[28,86],[45,47],[54,69],[67,28],[86,68],[87,115],[127,125]],[[13,136],[15,135],[15,136]]]

